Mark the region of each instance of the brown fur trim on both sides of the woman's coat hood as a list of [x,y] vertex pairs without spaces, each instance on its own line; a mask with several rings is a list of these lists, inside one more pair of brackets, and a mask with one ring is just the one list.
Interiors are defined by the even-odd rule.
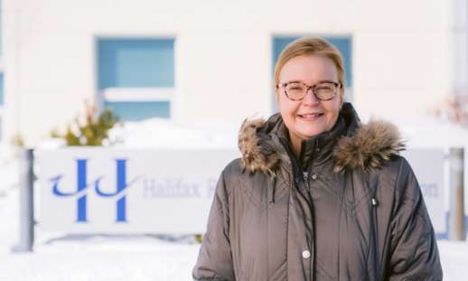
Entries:
[[[385,121],[373,120],[361,124],[354,108],[345,103],[341,117],[346,119],[346,133],[339,136],[332,147],[334,172],[362,168],[365,171],[379,169],[392,156],[405,149],[398,128]],[[277,128],[282,118],[246,119],[239,131],[239,150],[242,169],[274,174],[281,157],[275,143]]]

